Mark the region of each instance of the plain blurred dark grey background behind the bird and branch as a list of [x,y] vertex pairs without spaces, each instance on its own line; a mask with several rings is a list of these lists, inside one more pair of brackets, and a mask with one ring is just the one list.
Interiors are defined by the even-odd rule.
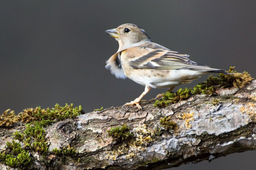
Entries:
[[[193,61],[226,70],[236,66],[256,77],[255,9],[255,0],[1,0],[0,113],[56,103],[90,112],[137,98],[143,86],[105,69],[118,42],[104,31],[123,23],[137,24],[153,42]],[[153,89],[144,99],[162,92]],[[255,160],[256,151],[249,151],[173,170],[254,170]]]

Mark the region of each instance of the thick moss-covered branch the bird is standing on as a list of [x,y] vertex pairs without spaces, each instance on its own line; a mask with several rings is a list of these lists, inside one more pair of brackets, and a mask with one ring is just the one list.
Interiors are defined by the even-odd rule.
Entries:
[[[84,113],[73,104],[0,116],[2,169],[163,169],[256,148],[256,81],[220,74],[160,100]],[[196,155],[196,156],[195,156]]]

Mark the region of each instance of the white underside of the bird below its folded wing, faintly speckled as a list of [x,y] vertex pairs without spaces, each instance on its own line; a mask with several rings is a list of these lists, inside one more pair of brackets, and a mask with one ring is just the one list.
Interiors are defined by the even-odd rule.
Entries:
[[187,69],[180,70],[156,70],[156,69],[133,69],[126,73],[127,77],[143,86],[153,88],[170,88],[181,84],[191,83],[200,78],[205,72],[197,72]]

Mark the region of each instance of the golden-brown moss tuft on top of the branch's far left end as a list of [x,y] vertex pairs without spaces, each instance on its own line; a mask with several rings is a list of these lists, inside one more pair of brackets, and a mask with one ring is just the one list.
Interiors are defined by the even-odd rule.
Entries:
[[14,111],[7,109],[2,115],[0,115],[0,127],[11,127],[18,120],[19,119],[17,116],[15,116]]

